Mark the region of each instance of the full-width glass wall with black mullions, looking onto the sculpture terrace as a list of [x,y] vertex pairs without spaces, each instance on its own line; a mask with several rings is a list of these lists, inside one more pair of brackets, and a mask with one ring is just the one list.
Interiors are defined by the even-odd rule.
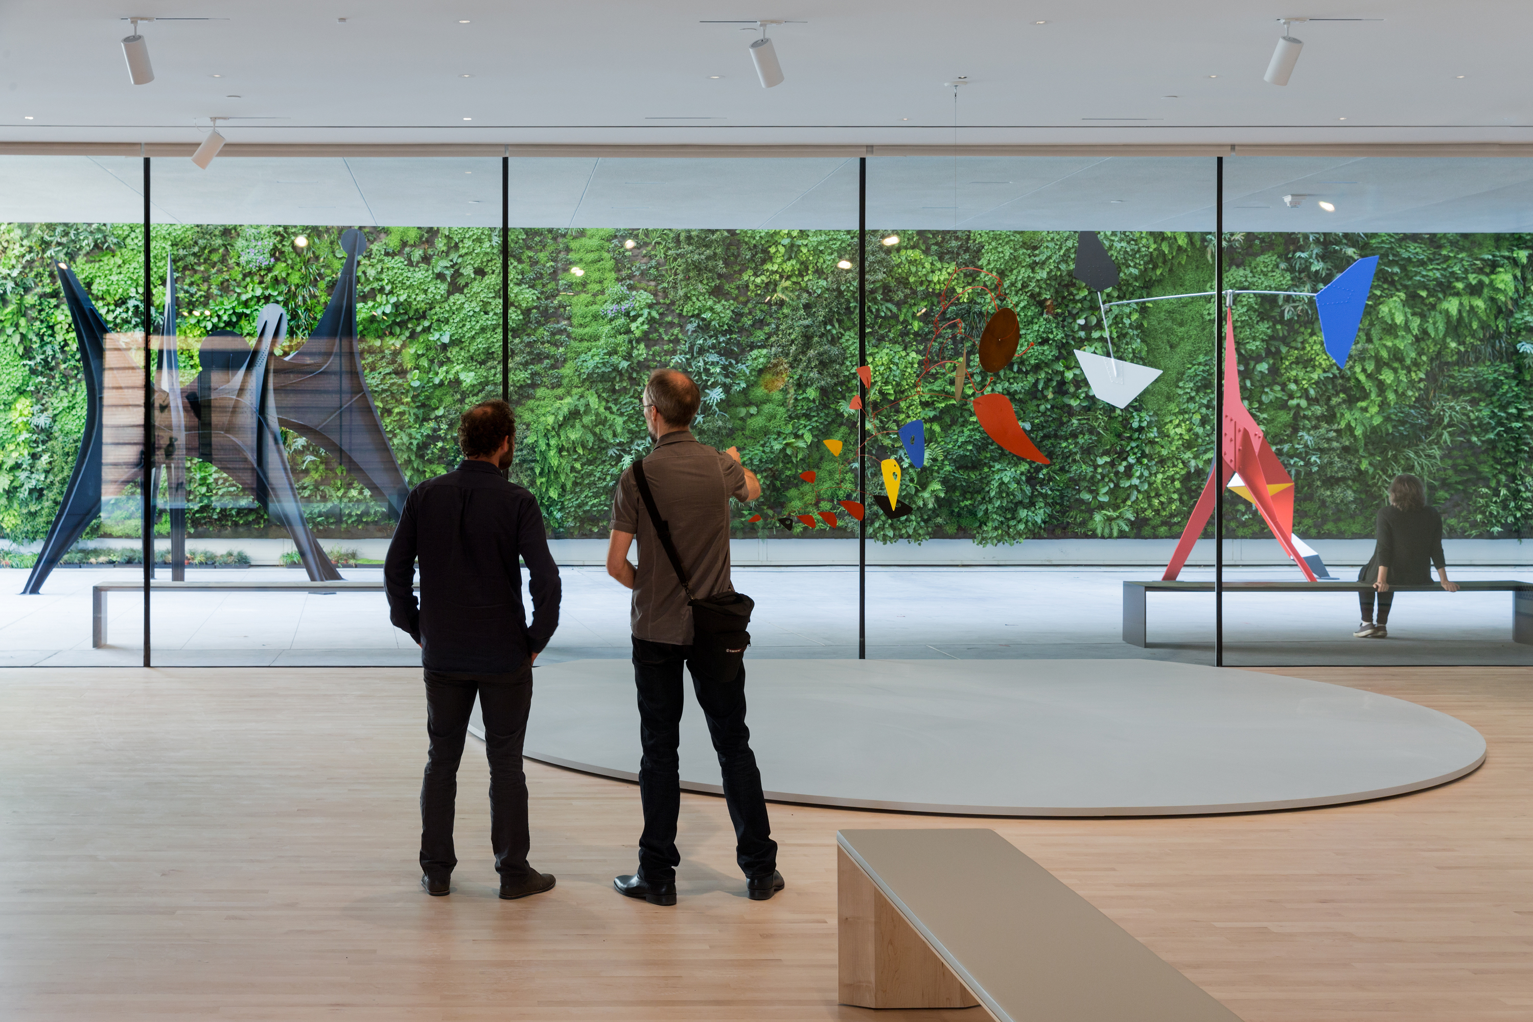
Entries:
[[[1223,164],[1231,457],[1262,475],[1222,495],[1223,662],[1527,662],[1533,161]],[[627,656],[602,562],[658,366],[762,480],[753,656],[1214,660],[1213,158],[868,158],[862,236],[858,159],[506,167],[503,305],[498,158],[155,159],[146,478],[144,164],[0,159],[0,663],[143,660],[146,484],[156,581],[219,584],[155,591],[155,663],[419,662],[379,565],[503,372],[564,565],[549,657]],[[1461,590],[1433,572],[1355,639],[1401,473]],[[1167,578],[1137,645],[1131,584]]]

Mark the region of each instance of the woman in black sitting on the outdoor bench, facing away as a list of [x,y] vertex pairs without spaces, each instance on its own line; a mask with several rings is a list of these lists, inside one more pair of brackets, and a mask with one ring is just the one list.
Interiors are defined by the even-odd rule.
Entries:
[[[1358,639],[1384,639],[1389,636],[1389,605],[1395,595],[1390,585],[1429,585],[1430,564],[1436,565],[1438,581],[1450,593],[1458,591],[1456,582],[1447,581],[1447,564],[1443,559],[1443,515],[1427,507],[1426,487],[1413,475],[1397,475],[1389,484],[1389,504],[1378,510],[1374,527],[1374,558],[1357,573],[1358,582],[1372,582],[1372,590],[1358,593],[1363,607],[1363,622],[1352,634]],[[1374,593],[1378,593],[1378,622],[1374,622]]]

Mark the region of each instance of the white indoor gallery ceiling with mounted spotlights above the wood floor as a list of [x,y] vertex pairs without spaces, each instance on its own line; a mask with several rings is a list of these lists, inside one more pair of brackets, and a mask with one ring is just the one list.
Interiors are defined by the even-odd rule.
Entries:
[[[132,86],[129,14],[227,20],[144,25],[156,80]],[[1297,26],[1269,86],[1300,14],[1383,21]],[[701,25],[762,17],[808,21],[771,29],[776,89],[751,32]],[[973,144],[1533,141],[1530,35],[1525,0],[9,0],[0,142],[196,141],[228,115],[274,118],[231,121],[241,142],[950,144],[957,75]]]

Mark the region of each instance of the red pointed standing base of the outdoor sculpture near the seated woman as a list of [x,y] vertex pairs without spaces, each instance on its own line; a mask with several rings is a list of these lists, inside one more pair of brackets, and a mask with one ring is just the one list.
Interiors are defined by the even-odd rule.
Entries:
[[[1294,559],[1305,578],[1314,582],[1315,573],[1294,549],[1294,478],[1272,454],[1266,437],[1262,435],[1262,429],[1251,418],[1245,401],[1240,400],[1240,375],[1236,372],[1234,310],[1225,313],[1225,423],[1220,435],[1219,478],[1214,478],[1214,472],[1208,473],[1208,483],[1203,484],[1203,493],[1197,498],[1191,518],[1187,519],[1187,529],[1182,530],[1176,553],[1171,555],[1171,562],[1165,567],[1165,575],[1160,576],[1162,581],[1174,582],[1176,576],[1182,573],[1187,555],[1193,552],[1193,544],[1197,542],[1203,526],[1208,524],[1208,516],[1214,512],[1214,498],[1239,472],[1240,481],[1251,490],[1251,498],[1279,545]],[[1282,489],[1271,493],[1269,484],[1282,486]]]

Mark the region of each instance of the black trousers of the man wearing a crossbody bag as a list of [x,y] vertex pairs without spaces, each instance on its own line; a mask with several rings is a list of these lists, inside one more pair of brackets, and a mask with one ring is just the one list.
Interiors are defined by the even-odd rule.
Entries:
[[691,660],[691,647],[633,639],[633,679],[639,690],[639,800],[644,803],[644,835],[639,838],[639,873],[668,884],[676,880],[676,815],[681,812],[681,711],[685,705],[682,663],[691,671],[698,705],[708,720],[708,735],[719,754],[724,800],[734,823],[734,860],[747,876],[770,876],[777,869],[777,843],[771,840],[762,774],[751,752],[745,726],[745,667],[731,679],[710,677]]

